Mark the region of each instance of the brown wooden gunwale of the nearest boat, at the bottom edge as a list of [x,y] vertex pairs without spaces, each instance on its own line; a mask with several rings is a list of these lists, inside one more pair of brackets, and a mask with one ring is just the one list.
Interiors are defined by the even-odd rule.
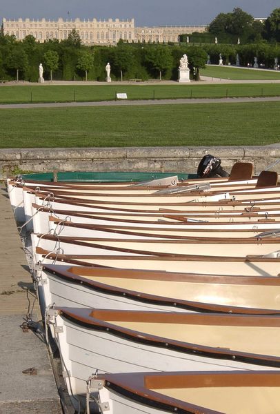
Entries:
[[[181,371],[168,373],[116,373],[97,375],[97,380],[103,382],[103,386],[109,390],[112,389],[112,391],[125,397],[131,398],[132,400],[143,402],[143,404],[147,405],[150,400],[154,401],[154,404],[157,404],[159,401],[163,402],[163,404],[168,404],[168,406],[176,407],[177,413],[191,414],[221,414],[221,412],[183,402],[168,395],[159,395],[157,390],[164,388],[181,388],[182,386],[186,386],[187,388],[248,386],[248,390],[250,390],[250,386],[279,386],[279,379],[279,373],[275,371]],[[204,384],[201,384],[203,381]],[[188,387],[189,382],[190,387]],[[275,382],[277,382],[277,385],[275,385]],[[159,408],[164,409],[164,406]]]

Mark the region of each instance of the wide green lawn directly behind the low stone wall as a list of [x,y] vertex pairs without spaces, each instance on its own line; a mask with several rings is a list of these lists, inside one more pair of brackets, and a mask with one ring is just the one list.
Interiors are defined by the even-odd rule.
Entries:
[[236,146],[279,141],[280,102],[1,109],[1,148]]

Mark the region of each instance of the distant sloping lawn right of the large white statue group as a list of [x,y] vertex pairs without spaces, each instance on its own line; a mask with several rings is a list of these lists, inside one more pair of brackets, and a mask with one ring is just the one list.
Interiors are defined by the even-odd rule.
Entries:
[[236,81],[271,81],[272,79],[280,80],[280,70],[274,70],[273,72],[269,72],[268,70],[261,69],[252,70],[246,68],[232,68],[232,66],[208,65],[205,69],[200,70],[200,75],[221,79],[231,79]]

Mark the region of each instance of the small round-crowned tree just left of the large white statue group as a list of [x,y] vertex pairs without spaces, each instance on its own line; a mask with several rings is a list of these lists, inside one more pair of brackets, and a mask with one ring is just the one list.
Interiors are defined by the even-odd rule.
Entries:
[[145,61],[152,70],[159,71],[161,80],[162,72],[172,68],[172,55],[168,46],[148,46],[145,52]]

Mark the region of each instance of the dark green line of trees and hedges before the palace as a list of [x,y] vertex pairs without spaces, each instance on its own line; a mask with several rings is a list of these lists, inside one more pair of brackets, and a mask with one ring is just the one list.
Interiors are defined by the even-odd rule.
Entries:
[[[256,24],[255,24],[256,23]],[[257,24],[258,23],[258,24]],[[254,22],[250,14],[241,9],[234,9],[232,13],[219,14],[210,23],[208,32],[199,34],[205,39],[222,35],[238,36],[237,41],[215,43],[214,41],[190,42],[196,34],[190,34],[189,43],[126,43],[119,41],[117,46],[83,46],[79,34],[72,30],[68,39],[59,42],[51,39],[44,43],[37,43],[36,39],[28,35],[22,41],[0,30],[0,80],[24,80],[35,82],[39,77],[39,63],[43,64],[45,79],[61,80],[96,80],[105,81],[105,67],[108,62],[111,66],[112,80],[126,79],[172,79],[178,78],[178,66],[183,54],[188,55],[190,63],[190,77],[199,79],[199,68],[206,62],[219,63],[219,55],[223,62],[235,64],[237,54],[241,66],[254,63],[258,58],[263,67],[273,68],[274,59],[280,61],[280,9],[270,14],[262,28],[266,27],[266,36],[269,39],[254,35],[252,28],[259,27],[259,21]],[[250,29],[250,30],[249,30]],[[260,32],[260,30],[259,30]],[[207,38],[208,37],[208,38]],[[245,42],[245,37],[250,38]],[[182,35],[182,39],[183,35]]]

